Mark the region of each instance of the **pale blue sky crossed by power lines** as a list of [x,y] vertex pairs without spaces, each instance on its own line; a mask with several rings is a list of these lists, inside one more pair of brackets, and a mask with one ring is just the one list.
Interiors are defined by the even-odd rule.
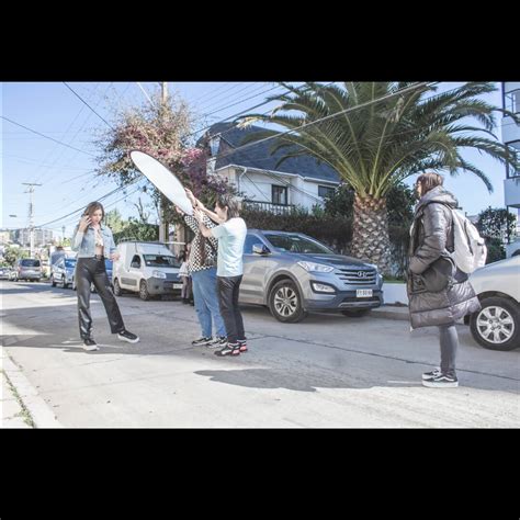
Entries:
[[[63,82],[0,83],[0,114],[3,117],[69,146],[0,120],[1,228],[27,226],[30,194],[26,192],[29,186],[23,183],[39,183],[42,185],[35,186],[33,193],[34,225],[44,225],[58,237],[63,236],[65,226],[65,236],[70,236],[79,216],[61,217],[117,188],[115,182],[93,173],[99,154],[93,143],[95,136],[108,129],[115,110],[149,103],[148,97],[160,91],[158,82],[68,84],[105,121]],[[439,91],[460,84],[440,83]],[[501,106],[500,83],[497,88],[485,100]],[[185,99],[202,123],[216,123],[284,90],[272,82],[168,82],[168,89],[169,93],[178,92]],[[259,110],[272,106],[273,103]],[[497,123],[496,135],[501,138],[498,114]],[[488,206],[504,207],[505,168],[476,150],[464,151],[463,156],[486,172],[495,191],[489,194],[484,183],[471,173],[461,173],[457,178],[446,176],[446,189],[457,196],[460,205],[470,215],[478,214]],[[412,182],[414,179],[410,179],[409,183]],[[118,192],[103,200],[106,211],[117,207],[124,218],[137,216],[133,203],[140,196],[151,213],[149,221],[156,222],[157,215],[148,195],[133,191],[134,188],[128,189],[126,199],[124,193]]]

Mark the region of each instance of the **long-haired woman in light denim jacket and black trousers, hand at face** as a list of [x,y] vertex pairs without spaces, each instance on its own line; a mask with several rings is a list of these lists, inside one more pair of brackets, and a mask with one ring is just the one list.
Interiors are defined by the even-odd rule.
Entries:
[[125,329],[120,307],[106,275],[104,259],[118,260],[114,238],[110,228],[101,221],[104,217],[103,206],[91,202],[76,226],[72,236],[72,250],[78,251],[76,263],[76,286],[78,291],[79,334],[86,350],[99,350],[92,337],[92,316],[90,314],[90,286],[93,283],[103,302],[112,334],[129,343],[137,343],[139,338]]

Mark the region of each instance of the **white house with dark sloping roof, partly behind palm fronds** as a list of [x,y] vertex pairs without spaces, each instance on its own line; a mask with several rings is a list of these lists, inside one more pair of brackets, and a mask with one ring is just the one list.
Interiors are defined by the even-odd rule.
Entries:
[[202,138],[211,152],[208,174],[226,177],[249,206],[284,213],[295,205],[309,211],[323,205],[324,196],[339,185],[338,173],[309,156],[291,157],[276,166],[287,150],[270,155],[274,139],[241,149],[244,138],[260,131],[237,128],[234,123],[213,125]]

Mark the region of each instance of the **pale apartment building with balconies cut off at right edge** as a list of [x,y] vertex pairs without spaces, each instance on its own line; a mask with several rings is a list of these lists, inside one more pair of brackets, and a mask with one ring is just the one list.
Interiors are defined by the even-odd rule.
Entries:
[[[520,81],[502,82],[502,105],[504,109],[520,115]],[[508,146],[512,156],[520,158],[520,125],[515,123],[510,116],[502,118],[502,142]],[[520,170],[515,169],[511,165],[506,167],[504,194],[506,207],[516,210],[517,217],[520,217]],[[520,250],[518,226],[516,236],[509,237],[509,244],[506,247],[507,256],[510,257],[517,250]]]

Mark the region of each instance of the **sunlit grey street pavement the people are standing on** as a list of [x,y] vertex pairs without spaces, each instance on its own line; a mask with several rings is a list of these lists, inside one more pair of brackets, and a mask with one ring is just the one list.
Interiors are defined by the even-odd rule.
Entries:
[[245,307],[249,351],[217,358],[194,308],[118,298],[137,344],[110,334],[92,295],[94,337],[79,340],[76,293],[48,283],[0,282],[4,354],[57,420],[75,427],[510,428],[520,426],[520,349],[494,352],[459,327],[459,388],[426,388],[439,363],[437,329],[403,320],[315,314],[285,325]]

